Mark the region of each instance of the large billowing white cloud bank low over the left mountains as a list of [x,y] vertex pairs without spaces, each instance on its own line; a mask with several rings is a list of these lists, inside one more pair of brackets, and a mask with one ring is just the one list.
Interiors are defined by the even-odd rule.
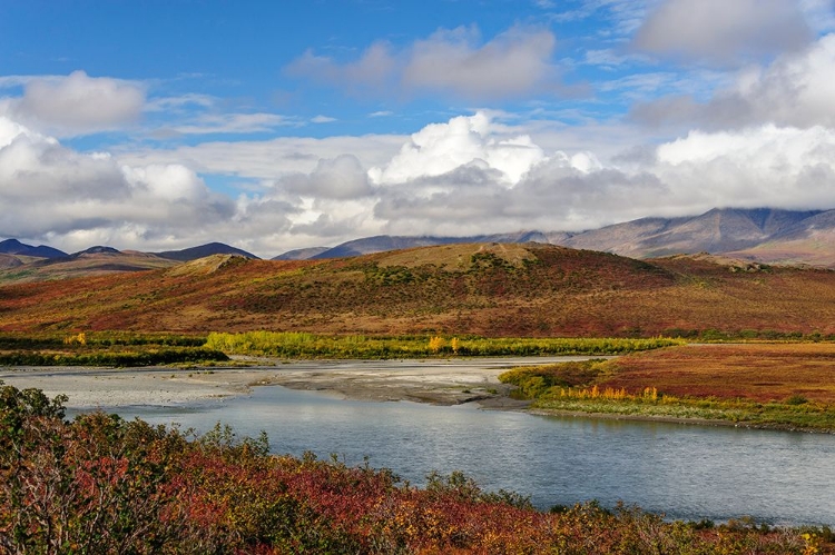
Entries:
[[[80,153],[0,117],[0,236],[146,240],[228,220],[234,202],[185,167],[124,167],[107,153]],[[50,235],[51,234],[51,235]],[[89,245],[88,245],[89,246]]]

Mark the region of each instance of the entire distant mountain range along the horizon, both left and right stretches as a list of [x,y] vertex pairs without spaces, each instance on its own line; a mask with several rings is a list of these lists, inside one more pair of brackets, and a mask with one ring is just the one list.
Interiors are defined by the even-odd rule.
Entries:
[[[692,217],[649,217],[581,232],[531,230],[471,237],[384,235],[335,247],[291,250],[274,259],[321,260],[415,247],[490,242],[540,242],[641,259],[708,252],[766,264],[835,268],[835,210],[716,208]],[[67,254],[46,245],[36,247],[7,239],[0,241],[0,283],[166,268],[212,255],[258,258],[222,242],[163,252],[119,251],[97,246]]]

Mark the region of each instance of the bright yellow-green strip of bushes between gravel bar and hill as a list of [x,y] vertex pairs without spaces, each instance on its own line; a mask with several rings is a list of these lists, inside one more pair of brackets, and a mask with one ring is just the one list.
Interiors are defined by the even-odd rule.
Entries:
[[293,331],[212,333],[206,347],[282,358],[407,358],[429,356],[615,355],[681,345],[678,339],[325,336]]

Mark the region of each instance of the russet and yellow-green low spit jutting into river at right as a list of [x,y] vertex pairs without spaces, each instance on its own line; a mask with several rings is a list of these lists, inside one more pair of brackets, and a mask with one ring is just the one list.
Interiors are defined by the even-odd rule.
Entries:
[[835,432],[832,344],[701,345],[499,376],[539,410]]

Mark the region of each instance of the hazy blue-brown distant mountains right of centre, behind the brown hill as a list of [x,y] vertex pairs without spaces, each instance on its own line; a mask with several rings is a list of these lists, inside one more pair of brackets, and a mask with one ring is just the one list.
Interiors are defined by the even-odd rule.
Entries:
[[465,242],[546,242],[631,258],[710,252],[772,264],[835,268],[835,210],[715,208],[680,218],[641,218],[581,232],[520,231],[472,237],[376,236],[324,250],[291,251],[282,259],[353,257]]

